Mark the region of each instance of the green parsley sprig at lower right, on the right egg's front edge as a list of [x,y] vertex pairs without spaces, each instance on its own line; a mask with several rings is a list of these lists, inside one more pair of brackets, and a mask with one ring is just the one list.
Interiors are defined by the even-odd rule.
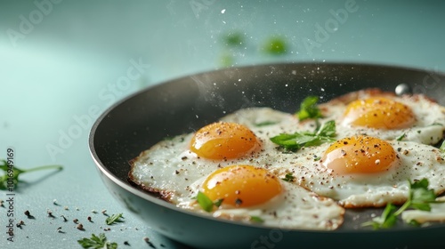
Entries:
[[382,216],[374,218],[372,221],[364,222],[361,225],[363,227],[372,226],[374,229],[387,229],[391,228],[397,222],[397,216],[408,208],[413,208],[422,211],[431,211],[432,203],[438,203],[436,201],[436,195],[433,189],[428,189],[428,180],[422,179],[421,181],[409,181],[409,197],[405,204],[396,211],[396,206],[392,204],[386,205]]

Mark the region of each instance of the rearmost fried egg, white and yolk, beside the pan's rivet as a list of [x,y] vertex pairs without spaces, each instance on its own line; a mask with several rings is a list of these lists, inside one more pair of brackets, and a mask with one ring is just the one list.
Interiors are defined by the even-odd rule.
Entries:
[[366,134],[383,140],[434,145],[445,131],[445,108],[425,95],[395,96],[368,89],[319,105],[323,118],[336,121],[337,138]]

